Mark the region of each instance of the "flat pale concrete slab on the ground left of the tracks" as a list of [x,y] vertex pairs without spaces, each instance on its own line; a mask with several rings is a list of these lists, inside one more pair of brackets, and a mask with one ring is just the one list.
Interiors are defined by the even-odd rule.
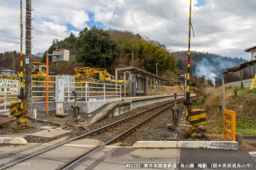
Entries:
[[31,136],[38,136],[38,137],[56,137],[61,136],[63,134],[70,133],[71,130],[56,130],[56,129],[48,129],[48,130],[42,130],[37,133],[32,133]]

